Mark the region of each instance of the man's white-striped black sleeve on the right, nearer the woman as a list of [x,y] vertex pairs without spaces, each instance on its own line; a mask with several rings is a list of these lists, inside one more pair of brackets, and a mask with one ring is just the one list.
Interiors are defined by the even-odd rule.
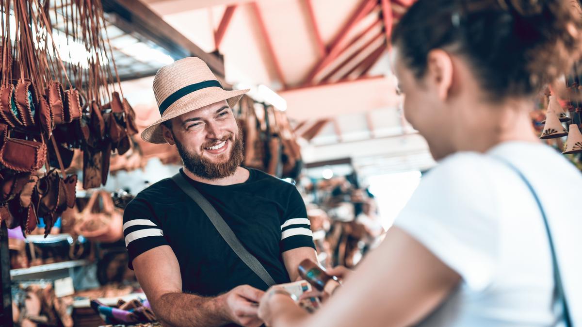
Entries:
[[281,222],[281,252],[293,250],[298,247],[312,247],[313,233],[311,223],[307,218],[305,202],[299,191],[293,187],[290,192],[287,209]]

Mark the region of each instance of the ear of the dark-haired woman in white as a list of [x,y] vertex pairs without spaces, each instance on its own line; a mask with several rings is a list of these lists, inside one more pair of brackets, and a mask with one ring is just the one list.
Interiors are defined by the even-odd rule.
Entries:
[[442,49],[433,49],[427,56],[425,81],[437,91],[438,98],[446,101],[453,85],[453,60]]

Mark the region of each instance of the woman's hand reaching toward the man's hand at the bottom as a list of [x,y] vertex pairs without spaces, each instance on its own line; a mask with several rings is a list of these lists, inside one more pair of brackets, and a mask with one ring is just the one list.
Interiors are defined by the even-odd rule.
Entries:
[[289,292],[278,286],[273,286],[267,290],[267,293],[261,298],[258,308],[258,317],[267,326],[273,326],[275,319],[281,317],[285,312],[299,309],[299,305]]

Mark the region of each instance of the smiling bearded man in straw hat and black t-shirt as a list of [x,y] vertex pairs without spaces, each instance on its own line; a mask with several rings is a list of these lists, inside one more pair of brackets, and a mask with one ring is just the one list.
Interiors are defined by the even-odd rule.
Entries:
[[[248,90],[223,90],[208,66],[185,58],[159,69],[161,113],[141,133],[176,145],[180,173],[214,206],[276,283],[299,278],[316,260],[305,205],[292,184],[240,166],[243,145],[231,107]],[[123,232],[130,268],[158,319],[172,326],[260,326],[267,284],[222,239],[208,216],[172,179],[127,205]]]

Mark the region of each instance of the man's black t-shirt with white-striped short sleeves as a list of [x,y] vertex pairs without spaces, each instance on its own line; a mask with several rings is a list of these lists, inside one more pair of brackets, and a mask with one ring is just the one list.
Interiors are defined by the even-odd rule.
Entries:
[[[276,283],[289,282],[283,252],[315,248],[305,204],[293,184],[255,169],[249,169],[246,182],[229,186],[196,182],[180,172],[210,201]],[[267,289],[172,179],[153,184],[127,205],[123,233],[132,269],[137,255],[171,246],[180,264],[184,292],[217,296],[244,284]]]

